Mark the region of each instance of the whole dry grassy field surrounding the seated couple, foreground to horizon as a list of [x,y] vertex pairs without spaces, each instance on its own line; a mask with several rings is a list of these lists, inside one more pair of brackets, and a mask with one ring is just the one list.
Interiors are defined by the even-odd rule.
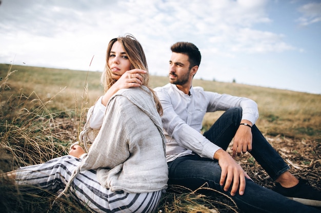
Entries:
[[[11,171],[67,154],[66,147],[77,140],[82,130],[87,108],[103,94],[100,76],[100,72],[0,64],[1,171]],[[152,87],[167,83],[167,77],[151,77]],[[293,166],[292,172],[305,175],[320,188],[320,94],[196,79],[193,86],[253,99],[259,107],[260,117],[256,124],[260,130],[273,147],[287,157]],[[203,129],[208,129],[220,114],[222,112],[208,113]],[[242,163],[254,180],[271,186],[271,180],[253,158],[245,155],[236,160]],[[15,211],[11,212],[42,212],[52,201],[48,192],[46,196],[19,194],[15,197],[16,188],[6,183],[1,185],[0,190],[7,192],[2,194],[3,206],[0,209],[12,210],[12,204],[18,202]],[[179,195],[167,193],[160,206],[163,212],[215,212],[215,209],[240,212],[230,201],[208,200],[203,194],[183,188],[178,191]],[[75,209],[85,212],[71,205],[68,199],[59,202],[61,206],[54,207],[50,212],[73,212]],[[29,203],[28,208],[22,207],[26,203]]]

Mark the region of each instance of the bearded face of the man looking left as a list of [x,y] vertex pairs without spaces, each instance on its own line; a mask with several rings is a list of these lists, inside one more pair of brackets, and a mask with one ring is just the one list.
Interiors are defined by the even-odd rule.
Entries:
[[169,82],[176,85],[183,85],[190,78],[190,62],[188,56],[182,53],[172,53],[169,60]]

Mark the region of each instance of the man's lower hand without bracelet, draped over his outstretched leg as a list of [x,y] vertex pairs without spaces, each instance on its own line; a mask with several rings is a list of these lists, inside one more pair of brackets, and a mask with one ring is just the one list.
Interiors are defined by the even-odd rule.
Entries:
[[224,191],[227,192],[233,182],[231,196],[234,196],[238,189],[238,194],[243,195],[245,191],[245,177],[250,177],[244,172],[242,167],[231,157],[229,153],[223,149],[217,150],[214,159],[218,160],[218,164],[222,169],[219,184],[224,185]]

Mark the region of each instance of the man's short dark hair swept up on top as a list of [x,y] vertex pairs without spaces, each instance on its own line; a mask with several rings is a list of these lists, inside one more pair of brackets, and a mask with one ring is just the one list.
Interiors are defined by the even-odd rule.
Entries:
[[197,46],[195,46],[193,43],[184,41],[176,42],[171,46],[171,51],[173,53],[182,53],[188,55],[190,62],[189,68],[192,68],[196,65],[199,66],[200,64],[200,52]]

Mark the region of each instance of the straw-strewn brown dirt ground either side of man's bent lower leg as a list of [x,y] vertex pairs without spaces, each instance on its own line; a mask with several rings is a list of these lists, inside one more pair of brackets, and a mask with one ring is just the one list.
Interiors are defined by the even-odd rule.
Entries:
[[[321,190],[321,144],[312,140],[299,140],[284,138],[280,135],[270,137],[265,135],[272,147],[290,166],[290,172],[297,177],[308,180],[309,183]],[[274,183],[268,174],[253,161],[253,157],[246,153],[244,156],[237,157],[243,169],[250,177],[260,185],[272,188]]]

